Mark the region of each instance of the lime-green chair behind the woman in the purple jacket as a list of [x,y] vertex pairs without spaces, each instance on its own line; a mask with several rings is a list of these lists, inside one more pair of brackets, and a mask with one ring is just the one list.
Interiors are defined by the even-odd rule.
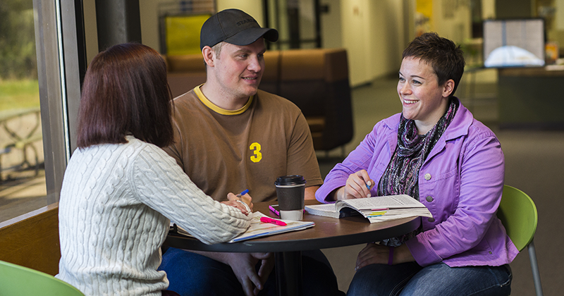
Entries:
[[533,200],[525,192],[504,185],[497,216],[519,252],[525,247],[529,250],[534,290],[537,296],[542,296],[541,276],[533,242],[534,233],[537,231],[537,206],[534,206]]

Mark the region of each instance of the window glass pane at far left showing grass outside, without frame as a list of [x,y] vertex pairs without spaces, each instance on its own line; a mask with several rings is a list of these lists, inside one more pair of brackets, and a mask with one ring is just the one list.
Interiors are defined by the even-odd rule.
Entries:
[[0,222],[47,205],[32,0],[0,2]]

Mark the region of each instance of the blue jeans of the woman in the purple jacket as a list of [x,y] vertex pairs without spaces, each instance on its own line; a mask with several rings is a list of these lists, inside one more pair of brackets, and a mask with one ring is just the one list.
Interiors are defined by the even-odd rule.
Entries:
[[371,264],[355,273],[348,296],[358,295],[510,295],[513,275],[503,266],[449,267],[415,262],[388,266]]

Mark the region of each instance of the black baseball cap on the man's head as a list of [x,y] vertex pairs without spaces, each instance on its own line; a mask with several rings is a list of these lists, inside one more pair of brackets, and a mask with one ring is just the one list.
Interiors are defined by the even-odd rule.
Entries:
[[255,18],[239,9],[219,11],[208,18],[200,31],[200,50],[206,45],[213,47],[219,42],[235,45],[248,45],[260,37],[275,42],[278,31],[268,27],[260,27]]

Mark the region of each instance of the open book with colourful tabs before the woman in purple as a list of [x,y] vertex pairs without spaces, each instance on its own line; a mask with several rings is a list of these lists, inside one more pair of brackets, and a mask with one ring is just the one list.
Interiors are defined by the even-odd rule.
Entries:
[[338,200],[334,204],[305,206],[305,211],[312,215],[332,218],[362,215],[368,218],[370,223],[415,216],[433,216],[429,209],[409,195]]

